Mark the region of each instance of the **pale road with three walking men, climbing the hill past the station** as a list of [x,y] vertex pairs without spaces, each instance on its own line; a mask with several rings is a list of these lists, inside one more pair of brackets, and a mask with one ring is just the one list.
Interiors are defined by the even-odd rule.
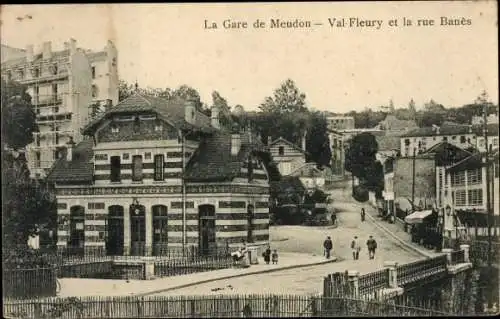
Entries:
[[[361,274],[383,268],[384,261],[399,263],[412,262],[423,258],[415,252],[403,249],[384,234],[370,221],[361,222],[361,205],[353,202],[349,190],[332,191],[334,206],[342,211],[337,214],[338,227],[303,227],[279,226],[271,228],[273,248],[278,251],[313,253],[322,255],[322,243],[326,235],[334,241],[334,254],[341,261],[320,266],[283,270],[275,273],[252,275],[234,279],[220,280],[158,295],[202,295],[202,294],[316,294],[322,293],[323,277],[332,272],[358,270]],[[363,247],[360,259],[352,260],[350,242],[353,236],[365,243],[369,235],[378,242],[378,250],[374,260],[368,259],[366,246]],[[287,239],[288,240],[285,240]],[[222,289],[212,291],[213,289]]]

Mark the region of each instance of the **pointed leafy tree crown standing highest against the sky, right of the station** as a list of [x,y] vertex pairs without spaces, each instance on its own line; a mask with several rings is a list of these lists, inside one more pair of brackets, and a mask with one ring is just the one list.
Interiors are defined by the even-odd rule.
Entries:
[[273,97],[266,97],[259,106],[263,112],[289,113],[304,112],[306,107],[306,95],[299,91],[295,82],[287,79],[274,91]]

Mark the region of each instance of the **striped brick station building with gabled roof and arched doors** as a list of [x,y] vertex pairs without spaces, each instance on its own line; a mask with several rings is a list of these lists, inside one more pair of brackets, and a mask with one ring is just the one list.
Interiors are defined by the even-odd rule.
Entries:
[[88,124],[49,176],[58,246],[162,255],[267,243],[267,149],[220,128],[217,114],[136,93]]

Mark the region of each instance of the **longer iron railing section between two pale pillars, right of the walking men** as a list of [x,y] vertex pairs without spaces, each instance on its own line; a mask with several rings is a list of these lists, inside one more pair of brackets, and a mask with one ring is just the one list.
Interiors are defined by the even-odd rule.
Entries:
[[421,278],[446,271],[446,265],[446,256],[438,256],[432,259],[419,260],[397,266],[398,286],[404,286]]

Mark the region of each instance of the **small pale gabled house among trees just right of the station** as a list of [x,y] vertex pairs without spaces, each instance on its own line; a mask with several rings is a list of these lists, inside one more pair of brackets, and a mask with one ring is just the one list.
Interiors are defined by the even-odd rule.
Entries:
[[271,155],[278,166],[281,176],[290,175],[306,163],[305,137],[302,147],[280,137],[269,144]]

